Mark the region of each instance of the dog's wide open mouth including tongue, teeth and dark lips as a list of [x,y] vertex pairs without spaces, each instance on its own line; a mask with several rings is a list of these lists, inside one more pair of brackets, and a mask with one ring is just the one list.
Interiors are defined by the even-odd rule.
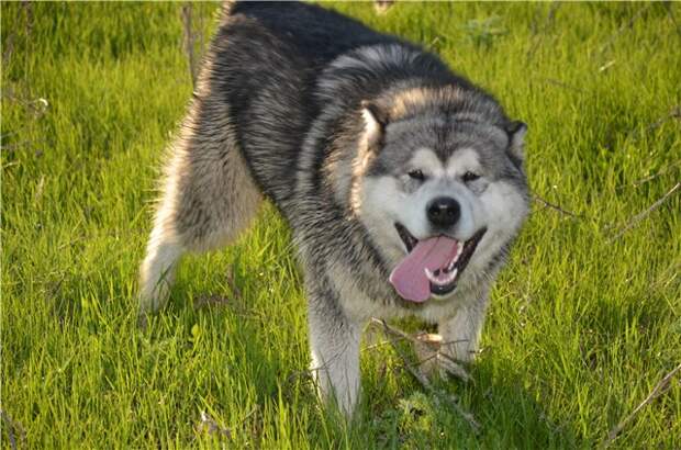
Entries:
[[448,236],[418,240],[399,223],[395,223],[395,229],[409,255],[391,274],[391,282],[400,295],[415,302],[425,301],[429,294],[453,292],[487,232],[487,228],[480,228],[461,243]]

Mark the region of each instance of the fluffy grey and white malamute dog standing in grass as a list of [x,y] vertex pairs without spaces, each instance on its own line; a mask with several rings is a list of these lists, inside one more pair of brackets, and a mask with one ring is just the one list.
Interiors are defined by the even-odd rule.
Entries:
[[141,312],[266,198],[304,270],[322,398],[351,415],[371,317],[437,324],[443,355],[470,361],[529,209],[526,131],[417,45],[312,4],[226,3],[170,146]]

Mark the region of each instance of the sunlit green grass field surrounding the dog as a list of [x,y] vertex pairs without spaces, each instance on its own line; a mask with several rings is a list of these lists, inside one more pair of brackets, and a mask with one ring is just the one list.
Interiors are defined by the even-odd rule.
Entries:
[[[482,355],[470,383],[436,382],[479,431],[390,346],[362,352],[353,427],[317,408],[271,206],[187,258],[137,328],[156,169],[191,94],[182,5],[3,2],[2,447],[681,448],[681,373],[636,409],[681,363],[680,5],[328,7],[438,52],[529,125],[537,200]],[[193,5],[204,41],[215,8]]]

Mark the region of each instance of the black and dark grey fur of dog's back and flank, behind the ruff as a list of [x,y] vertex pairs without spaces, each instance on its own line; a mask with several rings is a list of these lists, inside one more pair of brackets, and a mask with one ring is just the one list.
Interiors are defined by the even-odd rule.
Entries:
[[397,38],[298,2],[237,2],[225,8],[214,38],[213,77],[230,103],[242,150],[263,191],[290,196],[303,138],[324,106],[320,72],[354,48]]

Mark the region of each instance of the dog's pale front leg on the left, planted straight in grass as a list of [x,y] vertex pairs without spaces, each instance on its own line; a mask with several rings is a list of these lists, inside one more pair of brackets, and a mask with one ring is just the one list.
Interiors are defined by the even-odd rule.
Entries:
[[359,396],[361,324],[348,318],[333,289],[308,284],[311,370],[317,392],[323,402],[335,400],[349,417]]

